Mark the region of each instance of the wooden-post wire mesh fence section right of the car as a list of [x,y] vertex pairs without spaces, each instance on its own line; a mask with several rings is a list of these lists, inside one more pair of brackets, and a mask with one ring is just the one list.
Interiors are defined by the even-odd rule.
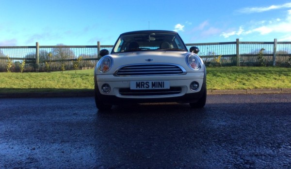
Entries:
[[291,42],[217,42],[189,43],[197,46],[207,66],[291,67]]

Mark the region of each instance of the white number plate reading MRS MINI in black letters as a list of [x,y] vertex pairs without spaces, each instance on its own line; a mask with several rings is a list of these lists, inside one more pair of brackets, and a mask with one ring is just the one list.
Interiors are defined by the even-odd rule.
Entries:
[[131,81],[130,89],[169,89],[169,81]]

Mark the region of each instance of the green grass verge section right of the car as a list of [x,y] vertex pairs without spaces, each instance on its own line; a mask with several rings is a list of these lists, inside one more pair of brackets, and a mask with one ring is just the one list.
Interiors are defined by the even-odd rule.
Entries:
[[291,88],[291,68],[207,68],[207,87],[212,90]]

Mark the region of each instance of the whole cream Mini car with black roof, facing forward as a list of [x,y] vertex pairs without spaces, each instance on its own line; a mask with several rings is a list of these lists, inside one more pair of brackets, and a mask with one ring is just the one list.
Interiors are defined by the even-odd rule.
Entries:
[[94,71],[98,110],[130,103],[178,102],[194,108],[206,103],[205,65],[177,32],[123,33],[111,54],[103,49],[100,56]]

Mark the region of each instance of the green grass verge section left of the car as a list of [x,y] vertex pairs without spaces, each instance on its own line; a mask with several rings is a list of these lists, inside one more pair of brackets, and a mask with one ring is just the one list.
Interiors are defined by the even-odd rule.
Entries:
[[0,93],[69,92],[94,89],[94,70],[0,73]]

